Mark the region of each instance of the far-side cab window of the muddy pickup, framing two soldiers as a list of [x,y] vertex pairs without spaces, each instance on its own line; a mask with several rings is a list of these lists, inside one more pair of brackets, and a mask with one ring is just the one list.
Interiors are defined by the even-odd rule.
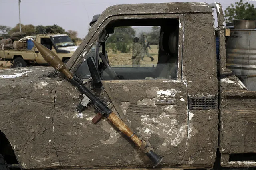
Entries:
[[160,26],[115,27],[106,41],[112,67],[152,67],[158,61]]

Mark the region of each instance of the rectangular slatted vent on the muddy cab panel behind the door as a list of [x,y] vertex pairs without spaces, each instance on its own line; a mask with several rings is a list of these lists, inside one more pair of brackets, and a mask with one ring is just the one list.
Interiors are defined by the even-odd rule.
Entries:
[[188,109],[217,109],[218,97],[216,96],[193,96],[188,97]]

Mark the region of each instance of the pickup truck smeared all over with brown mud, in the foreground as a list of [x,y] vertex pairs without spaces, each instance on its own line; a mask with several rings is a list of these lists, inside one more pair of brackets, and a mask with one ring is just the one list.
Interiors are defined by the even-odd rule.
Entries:
[[[223,23],[219,3],[111,6],[66,67],[164,157],[159,167],[255,168],[256,92],[248,91],[226,68]],[[125,26],[161,27],[157,63],[144,65],[145,57],[140,65],[109,64],[121,53],[115,57],[107,53],[106,40]],[[101,85],[92,81],[90,73],[95,70],[89,70],[86,62],[91,57]],[[24,169],[152,166],[107,119],[93,124],[96,114],[91,105],[77,112],[79,91],[53,68],[2,70],[0,91],[1,170],[18,165]]]

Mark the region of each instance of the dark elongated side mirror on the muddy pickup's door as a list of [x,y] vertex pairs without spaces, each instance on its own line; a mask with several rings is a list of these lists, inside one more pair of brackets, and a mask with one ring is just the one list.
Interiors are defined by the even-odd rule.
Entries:
[[95,83],[95,84],[101,83],[101,76],[100,76],[99,71],[96,67],[94,58],[89,57],[89,58],[86,59],[86,61],[87,61],[89,71],[90,71],[92,79],[93,79],[93,83]]

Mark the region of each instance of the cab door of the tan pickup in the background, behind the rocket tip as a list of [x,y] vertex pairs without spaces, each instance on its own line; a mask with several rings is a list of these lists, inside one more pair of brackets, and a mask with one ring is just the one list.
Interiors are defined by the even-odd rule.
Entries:
[[[50,38],[36,38],[36,42],[44,45],[45,47],[47,47],[48,49],[52,50],[52,42],[50,40]],[[38,64],[46,64],[47,62],[44,60],[44,58],[42,57],[42,55],[39,53],[38,49],[35,47],[35,60],[36,63]]]

